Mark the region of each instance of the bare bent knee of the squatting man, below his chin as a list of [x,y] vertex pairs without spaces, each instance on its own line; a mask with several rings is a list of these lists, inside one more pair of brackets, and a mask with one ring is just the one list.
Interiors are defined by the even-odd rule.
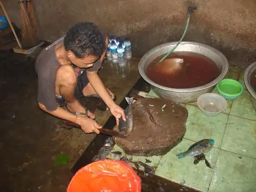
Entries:
[[77,77],[72,66],[61,66],[57,70],[56,81],[61,85],[76,85]]

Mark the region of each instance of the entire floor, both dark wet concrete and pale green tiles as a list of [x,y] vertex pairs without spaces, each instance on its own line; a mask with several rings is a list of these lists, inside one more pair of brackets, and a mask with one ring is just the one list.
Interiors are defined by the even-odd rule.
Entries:
[[[37,77],[34,72],[36,53],[27,57],[12,51],[0,52],[0,188],[4,192],[65,192],[70,168],[94,139],[81,130],[61,128],[61,120],[42,112],[36,101]],[[139,60],[132,60],[124,69],[104,64],[100,77],[121,102],[132,88],[139,73]],[[227,77],[243,83],[244,70],[230,67]],[[147,97],[157,98],[150,92]],[[204,192],[250,192],[256,189],[256,112],[249,102],[249,93],[228,101],[227,109],[214,118],[202,114],[196,104],[185,106],[189,111],[185,139],[163,156],[133,157],[156,166],[155,174]],[[95,112],[104,125],[109,112]],[[212,169],[193,157],[177,159],[195,141],[216,140],[205,154]],[[115,151],[121,149],[115,146]],[[69,156],[69,163],[54,164],[58,154]],[[142,167],[140,167],[142,169]]]

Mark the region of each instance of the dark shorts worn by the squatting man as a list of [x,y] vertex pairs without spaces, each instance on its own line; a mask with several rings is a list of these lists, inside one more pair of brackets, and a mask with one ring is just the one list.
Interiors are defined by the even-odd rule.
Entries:
[[[87,86],[88,83],[89,83],[89,79],[87,77],[86,72],[84,72],[77,78],[77,85],[74,90],[74,97],[76,99],[83,97],[83,88]],[[56,102],[58,106],[64,106],[66,103],[66,100],[63,97],[60,98],[56,96]]]

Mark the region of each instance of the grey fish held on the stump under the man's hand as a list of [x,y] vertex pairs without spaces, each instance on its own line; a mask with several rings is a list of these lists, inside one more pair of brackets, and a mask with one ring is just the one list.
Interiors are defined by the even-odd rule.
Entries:
[[126,121],[120,118],[118,129],[122,134],[127,136],[132,131],[132,128],[133,128],[133,113],[131,109],[131,105],[133,103],[133,97],[131,98],[125,97],[125,99],[128,103],[127,108],[124,110]]

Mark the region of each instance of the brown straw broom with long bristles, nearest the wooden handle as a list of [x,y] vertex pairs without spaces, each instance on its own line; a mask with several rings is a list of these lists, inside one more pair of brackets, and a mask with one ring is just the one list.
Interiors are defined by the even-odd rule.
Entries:
[[24,48],[30,48],[36,45],[38,41],[36,28],[27,14],[27,8],[23,0],[19,0],[20,19],[21,19],[21,42]]

